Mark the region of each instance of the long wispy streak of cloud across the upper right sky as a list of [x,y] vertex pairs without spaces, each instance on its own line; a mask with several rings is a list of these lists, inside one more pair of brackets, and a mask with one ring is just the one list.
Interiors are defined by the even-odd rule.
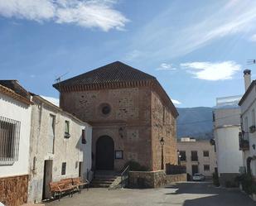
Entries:
[[246,38],[256,31],[256,1],[215,1],[173,15],[180,11],[180,5],[170,2],[165,11],[135,34],[129,50],[137,48],[149,54],[139,61],[173,59],[223,37]]

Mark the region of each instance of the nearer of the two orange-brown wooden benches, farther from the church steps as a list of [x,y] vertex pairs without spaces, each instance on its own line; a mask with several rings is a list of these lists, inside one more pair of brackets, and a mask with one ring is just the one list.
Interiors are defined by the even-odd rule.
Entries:
[[49,186],[52,197],[56,198],[56,196],[59,196],[59,201],[62,194],[69,194],[69,196],[71,194],[72,197],[75,189],[75,186],[67,181],[51,182]]

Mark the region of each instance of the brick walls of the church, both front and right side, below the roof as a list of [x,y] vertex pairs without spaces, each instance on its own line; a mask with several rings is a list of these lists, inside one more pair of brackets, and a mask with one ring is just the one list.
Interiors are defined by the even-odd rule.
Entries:
[[[88,73],[90,80],[94,79],[92,72]],[[58,85],[55,87],[60,90]],[[111,108],[107,115],[102,113],[104,105]],[[115,151],[123,151],[123,159],[114,160],[114,170],[121,170],[128,160],[138,161],[149,170],[160,170],[161,137],[165,141],[164,163],[176,164],[176,108],[156,79],[91,86],[61,84],[60,108],[93,126],[94,165],[96,142],[102,136],[114,140]]]

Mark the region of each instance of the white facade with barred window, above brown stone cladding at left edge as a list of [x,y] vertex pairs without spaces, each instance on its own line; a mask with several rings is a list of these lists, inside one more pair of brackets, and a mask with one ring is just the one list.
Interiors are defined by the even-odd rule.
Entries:
[[30,105],[0,91],[0,178],[28,174],[30,130]]

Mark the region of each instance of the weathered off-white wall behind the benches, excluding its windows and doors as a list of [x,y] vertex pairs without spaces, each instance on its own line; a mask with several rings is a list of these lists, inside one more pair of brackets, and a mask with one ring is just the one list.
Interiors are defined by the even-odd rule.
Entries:
[[[35,99],[35,98],[33,98]],[[31,114],[31,152],[29,202],[40,202],[42,199],[44,162],[52,160],[52,181],[79,176],[79,162],[83,162],[82,177],[86,171],[91,170],[91,139],[92,128],[85,122],[78,121],[68,113],[49,106],[40,101],[34,101]],[[49,119],[50,115],[56,117],[54,153],[48,152]],[[70,138],[65,138],[65,121],[70,122]],[[81,143],[82,129],[85,129],[86,144]],[[36,170],[33,169],[33,158],[36,157]],[[66,162],[65,175],[61,175],[61,165]]]

